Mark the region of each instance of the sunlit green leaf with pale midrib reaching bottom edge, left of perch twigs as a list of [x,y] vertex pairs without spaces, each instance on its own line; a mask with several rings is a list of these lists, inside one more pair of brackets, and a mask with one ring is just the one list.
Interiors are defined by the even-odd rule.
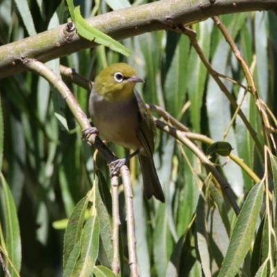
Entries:
[[92,274],[98,256],[99,233],[98,216],[94,215],[87,221],[82,230],[80,258],[73,271],[75,276],[87,277]]

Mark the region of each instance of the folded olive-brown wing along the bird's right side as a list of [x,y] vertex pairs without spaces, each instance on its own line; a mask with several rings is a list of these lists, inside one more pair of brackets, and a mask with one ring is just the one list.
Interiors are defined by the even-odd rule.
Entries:
[[139,130],[137,134],[145,152],[149,157],[152,157],[154,152],[154,136],[156,135],[155,123],[139,93],[134,90],[134,94],[139,105],[140,116]]

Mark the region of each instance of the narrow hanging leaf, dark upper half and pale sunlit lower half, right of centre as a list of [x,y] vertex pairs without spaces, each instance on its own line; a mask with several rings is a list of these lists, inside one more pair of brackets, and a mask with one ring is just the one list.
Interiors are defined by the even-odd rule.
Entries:
[[208,233],[206,229],[206,211],[207,204],[203,195],[199,195],[199,201],[197,204],[196,211],[196,236],[197,236],[197,247],[199,256],[201,259],[202,270],[206,277],[211,277],[210,269],[210,254],[208,253]]

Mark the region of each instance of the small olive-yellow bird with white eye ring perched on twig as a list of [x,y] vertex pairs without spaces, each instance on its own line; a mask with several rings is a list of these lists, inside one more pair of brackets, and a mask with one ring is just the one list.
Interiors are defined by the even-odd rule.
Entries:
[[[110,64],[95,78],[89,96],[89,114],[93,125],[108,141],[134,152],[111,164],[118,172],[121,166],[139,154],[143,174],[144,193],[148,199],[154,195],[165,202],[153,161],[154,120],[141,96],[134,89],[136,82],[144,82],[136,76],[136,71],[129,64]],[[84,129],[88,133],[88,129]]]

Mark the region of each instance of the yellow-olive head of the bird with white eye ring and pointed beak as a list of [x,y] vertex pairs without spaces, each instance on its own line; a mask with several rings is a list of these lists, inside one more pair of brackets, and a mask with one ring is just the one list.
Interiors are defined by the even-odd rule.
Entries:
[[94,81],[94,89],[107,100],[122,101],[132,97],[136,82],[144,82],[136,71],[123,62],[110,64]]

